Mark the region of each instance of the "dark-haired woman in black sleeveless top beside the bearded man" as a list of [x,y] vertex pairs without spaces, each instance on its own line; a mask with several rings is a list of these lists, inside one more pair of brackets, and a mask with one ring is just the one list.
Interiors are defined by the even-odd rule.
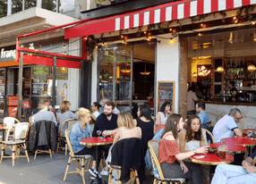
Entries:
[[137,123],[137,127],[141,127],[141,139],[144,145],[144,155],[146,155],[148,149],[148,142],[154,137],[155,122],[151,118],[149,105],[140,105],[137,114],[138,118],[135,121]]

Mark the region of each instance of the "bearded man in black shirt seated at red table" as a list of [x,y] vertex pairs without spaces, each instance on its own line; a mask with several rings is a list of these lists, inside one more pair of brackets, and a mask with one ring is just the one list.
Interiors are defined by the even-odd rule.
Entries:
[[[104,105],[104,113],[100,113],[98,115],[97,120],[95,121],[94,130],[92,132],[92,137],[98,137],[97,130],[101,130],[107,135],[115,133],[115,129],[117,128],[117,115],[114,113],[115,104],[112,101],[107,101]],[[98,163],[100,158],[102,157],[102,152],[105,152],[105,159],[107,159],[108,150],[111,145],[98,146],[98,158],[96,158],[96,154],[93,155],[93,163],[92,167],[89,169],[90,174],[93,177],[97,177],[98,175]],[[96,163],[96,160],[98,163]],[[101,175],[108,175],[108,167],[106,166],[101,172]]]

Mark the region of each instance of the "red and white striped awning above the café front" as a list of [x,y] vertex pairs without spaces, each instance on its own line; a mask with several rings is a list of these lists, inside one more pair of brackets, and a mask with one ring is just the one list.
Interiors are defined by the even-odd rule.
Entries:
[[201,14],[217,13],[256,4],[256,0],[181,0],[152,6],[132,13],[86,21],[65,29],[65,38],[78,38],[122,29],[132,29],[165,21],[175,21]]

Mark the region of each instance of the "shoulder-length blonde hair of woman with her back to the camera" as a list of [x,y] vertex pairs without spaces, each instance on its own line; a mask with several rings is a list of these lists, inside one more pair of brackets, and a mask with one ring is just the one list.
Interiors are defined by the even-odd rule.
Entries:
[[120,113],[117,119],[117,126],[132,130],[135,127],[132,114],[128,111]]

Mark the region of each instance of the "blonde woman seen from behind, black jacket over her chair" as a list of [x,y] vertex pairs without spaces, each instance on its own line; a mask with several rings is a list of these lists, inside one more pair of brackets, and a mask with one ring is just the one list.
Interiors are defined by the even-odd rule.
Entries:
[[[113,146],[115,143],[123,138],[141,138],[141,128],[136,127],[135,121],[133,121],[132,114],[128,111],[124,111],[120,114],[118,114],[118,119],[117,119],[117,130],[115,133],[115,138],[113,141]],[[111,163],[111,150],[112,147],[110,147],[107,155],[107,166],[110,167]],[[113,171],[113,180],[112,182],[117,183],[117,173],[115,170]]]

